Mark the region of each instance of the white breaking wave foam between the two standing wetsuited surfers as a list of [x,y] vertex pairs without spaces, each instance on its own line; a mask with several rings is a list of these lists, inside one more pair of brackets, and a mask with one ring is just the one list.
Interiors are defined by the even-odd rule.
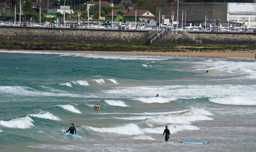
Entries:
[[141,131],[140,127],[130,123],[123,126],[117,126],[117,127],[110,127],[110,128],[96,128],[87,126],[89,130],[100,132],[100,133],[115,133],[119,135],[139,135],[144,134],[143,131]]

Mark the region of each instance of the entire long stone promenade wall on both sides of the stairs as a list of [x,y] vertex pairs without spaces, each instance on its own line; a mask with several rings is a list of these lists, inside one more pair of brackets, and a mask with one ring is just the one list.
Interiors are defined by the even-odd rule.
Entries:
[[[154,32],[0,26],[0,40],[36,42],[143,42]],[[202,44],[256,43],[256,33],[191,32],[190,34],[197,40],[202,40]],[[178,35],[172,35],[171,31],[167,31],[156,41],[160,43],[195,43],[182,32],[178,32]]]

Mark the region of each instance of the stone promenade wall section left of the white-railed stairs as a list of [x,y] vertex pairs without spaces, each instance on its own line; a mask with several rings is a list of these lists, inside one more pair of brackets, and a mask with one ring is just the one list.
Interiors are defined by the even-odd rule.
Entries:
[[0,26],[0,40],[47,42],[143,42],[152,31]]

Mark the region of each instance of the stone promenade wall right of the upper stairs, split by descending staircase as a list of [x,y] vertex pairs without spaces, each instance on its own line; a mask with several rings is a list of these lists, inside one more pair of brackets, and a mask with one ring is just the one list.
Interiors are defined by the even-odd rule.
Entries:
[[[245,43],[253,44],[256,43],[256,33],[202,33],[202,32],[190,32],[197,40],[201,40],[202,44],[211,43]],[[195,43],[193,39],[189,38],[181,32],[178,35],[172,32],[166,32],[158,40],[160,43]]]

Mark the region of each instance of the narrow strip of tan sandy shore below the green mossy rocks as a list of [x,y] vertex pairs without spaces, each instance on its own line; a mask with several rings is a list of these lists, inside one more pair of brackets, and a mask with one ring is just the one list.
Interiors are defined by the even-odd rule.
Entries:
[[97,54],[97,55],[141,55],[141,56],[172,56],[172,57],[214,57],[214,58],[255,58],[255,53],[246,52],[140,52],[140,51],[60,51],[60,50],[5,50],[2,52],[7,53],[25,53],[25,52],[42,52],[42,53],[59,53],[59,54]]

